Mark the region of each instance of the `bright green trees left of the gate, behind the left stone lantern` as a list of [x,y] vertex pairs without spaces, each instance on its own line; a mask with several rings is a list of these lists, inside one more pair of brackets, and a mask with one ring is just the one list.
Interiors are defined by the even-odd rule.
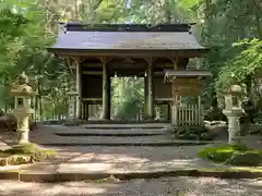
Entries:
[[[63,60],[51,57],[46,50],[56,39],[56,29],[49,28],[50,24],[46,21],[46,8],[41,4],[45,2],[1,2],[0,7],[0,94],[4,96],[0,105],[4,101],[8,109],[12,107],[10,83],[26,71],[38,93],[35,106],[37,117],[66,114],[67,82],[71,74]],[[48,103],[47,112],[44,111],[45,101],[53,102],[53,107]]]

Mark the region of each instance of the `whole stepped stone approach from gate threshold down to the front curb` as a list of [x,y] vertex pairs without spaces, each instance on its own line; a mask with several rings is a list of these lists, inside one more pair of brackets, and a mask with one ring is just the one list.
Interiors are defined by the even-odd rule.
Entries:
[[[44,125],[31,132],[31,142],[57,150],[59,157],[32,166],[2,169],[0,179],[60,182],[110,176],[122,180],[236,176],[213,171],[225,166],[198,157],[198,151],[206,147],[206,143],[174,140],[166,134],[167,125]],[[240,175],[247,176],[245,172]]]

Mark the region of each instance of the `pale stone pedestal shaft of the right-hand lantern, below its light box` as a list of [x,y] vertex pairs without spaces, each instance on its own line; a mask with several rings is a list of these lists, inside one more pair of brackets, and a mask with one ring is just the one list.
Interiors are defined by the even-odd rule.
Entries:
[[243,115],[243,111],[241,109],[224,109],[223,113],[228,119],[228,144],[236,144],[240,140],[239,119]]

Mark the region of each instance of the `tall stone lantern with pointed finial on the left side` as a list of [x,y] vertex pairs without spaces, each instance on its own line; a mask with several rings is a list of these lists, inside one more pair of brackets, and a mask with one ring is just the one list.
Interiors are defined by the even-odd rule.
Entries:
[[25,144],[29,142],[29,118],[35,112],[31,107],[31,101],[37,95],[28,85],[25,72],[19,76],[17,84],[12,85],[11,94],[14,96],[13,115],[17,120],[17,143]]

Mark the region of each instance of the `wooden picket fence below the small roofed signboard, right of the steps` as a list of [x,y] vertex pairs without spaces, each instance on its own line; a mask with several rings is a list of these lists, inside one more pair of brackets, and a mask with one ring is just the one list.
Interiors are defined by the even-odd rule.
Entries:
[[201,125],[203,123],[202,106],[172,106],[172,123],[176,125]]

